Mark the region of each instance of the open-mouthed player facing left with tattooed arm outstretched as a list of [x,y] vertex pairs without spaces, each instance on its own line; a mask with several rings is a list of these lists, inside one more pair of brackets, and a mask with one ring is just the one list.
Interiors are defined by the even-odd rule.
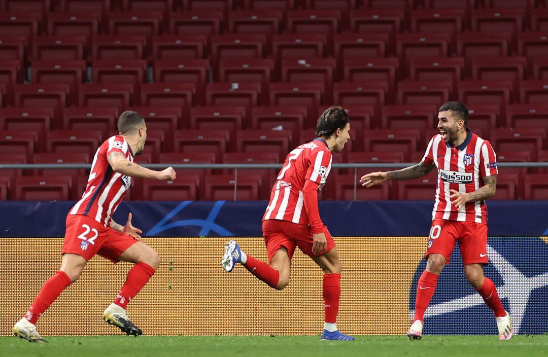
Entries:
[[439,108],[439,134],[432,137],[423,160],[414,166],[389,172],[372,172],[361,177],[362,186],[387,180],[412,180],[438,169],[436,203],[425,254],[426,269],[416,289],[415,316],[407,336],[423,335],[424,312],[436,290],[438,275],[459,241],[464,275],[493,310],[499,339],[513,336],[510,315],[504,310],[493,281],[483,275],[487,259],[487,206],[495,194],[496,156],[487,140],[466,128],[468,110],[460,102]]

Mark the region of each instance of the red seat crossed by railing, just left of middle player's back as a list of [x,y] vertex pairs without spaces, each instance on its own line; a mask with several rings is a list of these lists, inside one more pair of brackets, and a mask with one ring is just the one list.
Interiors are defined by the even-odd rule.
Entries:
[[[277,164],[279,163],[279,154],[268,152],[230,152],[223,154],[222,162],[224,164]],[[225,170],[224,173],[234,175],[234,170]],[[267,200],[270,198],[270,192],[278,175],[278,170],[238,169],[239,175],[260,175],[262,180],[259,199]]]

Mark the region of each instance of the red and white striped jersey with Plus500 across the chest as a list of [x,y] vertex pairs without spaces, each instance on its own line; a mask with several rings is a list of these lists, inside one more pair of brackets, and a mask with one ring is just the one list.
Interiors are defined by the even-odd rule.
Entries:
[[451,203],[450,189],[460,193],[476,191],[483,186],[482,177],[497,175],[496,155],[487,140],[466,129],[466,140],[459,146],[450,147],[441,135],[430,140],[423,161],[435,163],[438,169],[436,203],[432,220],[487,223],[485,201],[467,202],[460,210]]

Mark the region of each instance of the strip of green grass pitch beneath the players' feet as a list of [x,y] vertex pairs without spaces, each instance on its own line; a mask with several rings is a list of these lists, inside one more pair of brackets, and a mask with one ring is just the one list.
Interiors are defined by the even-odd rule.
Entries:
[[548,335],[498,336],[357,336],[356,341],[321,341],[319,336],[81,336],[45,337],[29,343],[0,337],[5,357],[347,357],[347,356],[548,356]]

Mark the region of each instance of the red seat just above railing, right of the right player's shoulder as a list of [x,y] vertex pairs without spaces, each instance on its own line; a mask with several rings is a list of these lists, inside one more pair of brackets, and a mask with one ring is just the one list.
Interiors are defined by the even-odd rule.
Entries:
[[529,151],[536,161],[537,153],[543,149],[546,131],[531,128],[493,129],[491,143],[496,151]]

